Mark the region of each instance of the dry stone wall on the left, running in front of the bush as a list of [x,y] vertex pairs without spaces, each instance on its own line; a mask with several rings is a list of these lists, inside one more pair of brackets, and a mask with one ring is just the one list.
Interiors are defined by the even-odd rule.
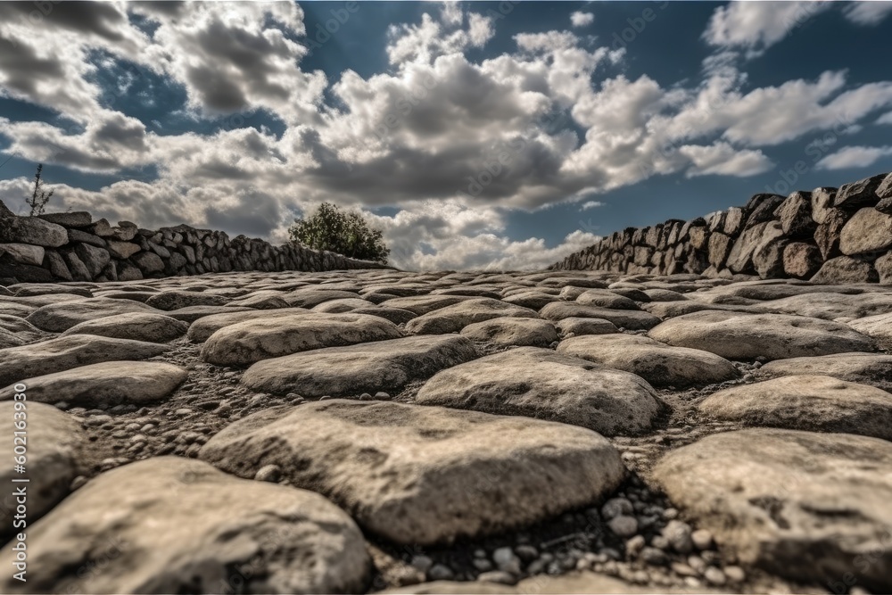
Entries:
[[58,281],[127,281],[232,270],[383,269],[384,265],[274,246],[245,236],[186,225],[112,227],[88,212],[18,217],[0,202],[0,285]]

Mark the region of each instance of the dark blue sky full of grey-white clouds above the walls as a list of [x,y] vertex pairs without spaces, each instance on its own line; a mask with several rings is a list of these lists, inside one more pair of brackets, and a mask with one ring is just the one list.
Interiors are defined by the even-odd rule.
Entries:
[[892,170],[890,56],[892,2],[4,2],[0,200],[541,269]]

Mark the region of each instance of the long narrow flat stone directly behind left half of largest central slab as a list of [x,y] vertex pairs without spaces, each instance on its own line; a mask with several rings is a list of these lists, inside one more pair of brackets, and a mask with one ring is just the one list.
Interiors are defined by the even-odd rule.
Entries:
[[476,357],[466,337],[418,335],[264,359],[247,369],[242,384],[263,393],[305,397],[375,394],[400,390]]

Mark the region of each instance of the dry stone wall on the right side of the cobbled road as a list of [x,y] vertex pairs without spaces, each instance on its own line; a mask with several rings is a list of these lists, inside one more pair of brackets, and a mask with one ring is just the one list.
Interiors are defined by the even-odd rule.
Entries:
[[892,174],[627,227],[549,269],[892,284]]

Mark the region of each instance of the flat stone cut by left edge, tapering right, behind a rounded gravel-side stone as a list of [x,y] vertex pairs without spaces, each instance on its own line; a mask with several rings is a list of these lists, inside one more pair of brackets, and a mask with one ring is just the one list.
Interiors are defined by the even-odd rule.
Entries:
[[30,378],[35,372],[54,374],[103,361],[148,359],[169,349],[161,343],[69,335],[0,350],[0,384]]

